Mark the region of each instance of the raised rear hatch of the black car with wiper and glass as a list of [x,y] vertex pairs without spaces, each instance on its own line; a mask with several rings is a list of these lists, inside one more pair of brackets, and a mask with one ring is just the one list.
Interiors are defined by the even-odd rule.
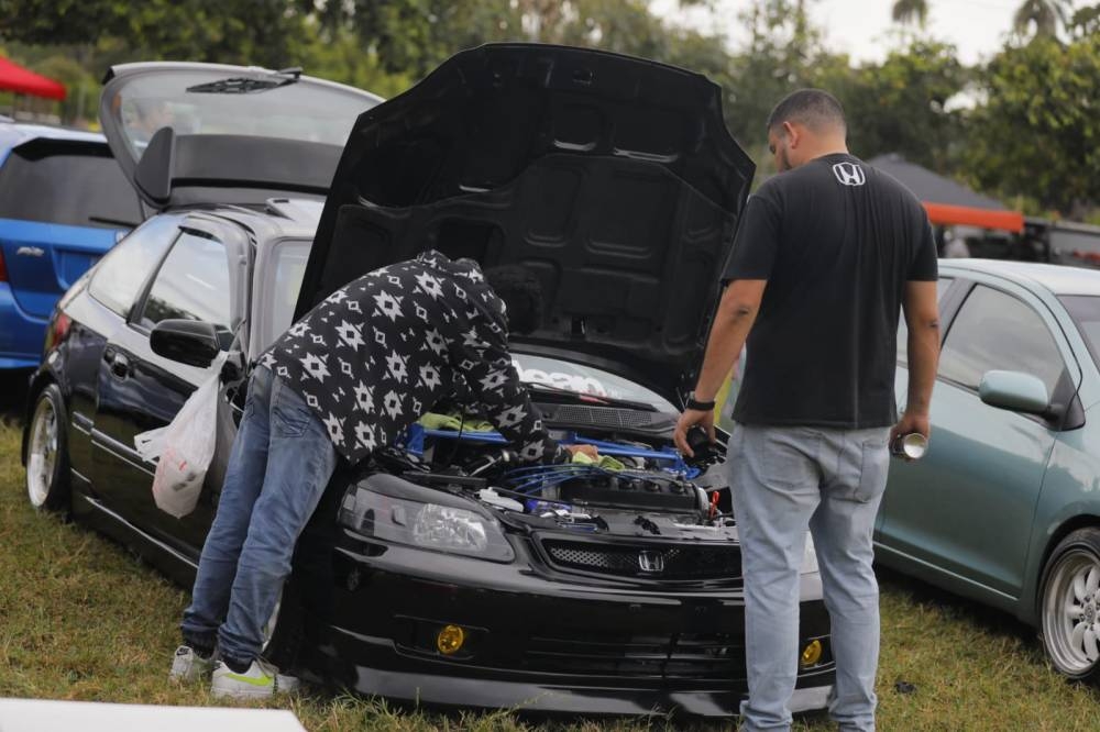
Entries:
[[382,101],[301,69],[223,64],[121,64],[103,84],[103,134],[154,210],[324,196],[355,119]]

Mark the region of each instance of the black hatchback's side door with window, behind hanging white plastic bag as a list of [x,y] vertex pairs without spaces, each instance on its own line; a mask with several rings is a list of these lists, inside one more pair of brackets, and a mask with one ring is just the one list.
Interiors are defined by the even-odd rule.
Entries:
[[[134,450],[140,432],[168,424],[199,384],[218,368],[188,366],[150,347],[150,333],[167,319],[201,320],[229,347],[240,317],[233,315],[231,257],[226,240],[243,236],[230,225],[188,219],[127,322],[108,339],[99,365],[96,410],[96,485],[112,510],[177,550],[197,550],[209,528],[213,499],[182,520],[156,508],[155,466]],[[238,265],[234,263],[233,267]]]

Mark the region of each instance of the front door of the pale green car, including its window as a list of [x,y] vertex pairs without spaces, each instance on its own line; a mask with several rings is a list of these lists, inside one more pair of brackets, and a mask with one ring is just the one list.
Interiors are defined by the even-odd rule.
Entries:
[[[970,290],[944,341],[928,454],[891,466],[882,548],[961,591],[959,583],[1002,599],[1019,596],[1058,425],[983,403],[978,385],[992,369],[1023,371],[1043,380],[1057,402],[1080,379],[1068,354],[1057,322],[1024,288],[991,280]],[[906,387],[899,369],[902,399]]]

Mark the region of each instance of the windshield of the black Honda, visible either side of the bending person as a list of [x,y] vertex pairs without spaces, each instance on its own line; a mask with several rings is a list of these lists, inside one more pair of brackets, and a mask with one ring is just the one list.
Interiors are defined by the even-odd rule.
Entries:
[[[261,293],[261,314],[256,323],[258,341],[254,353],[266,351],[283,331],[290,328],[301,278],[306,273],[306,262],[309,259],[309,242],[300,240],[286,240],[276,244]],[[541,384],[594,397],[640,401],[652,404],[662,412],[676,411],[657,392],[593,366],[526,353],[512,354],[512,363],[516,366],[519,378],[527,384]]]

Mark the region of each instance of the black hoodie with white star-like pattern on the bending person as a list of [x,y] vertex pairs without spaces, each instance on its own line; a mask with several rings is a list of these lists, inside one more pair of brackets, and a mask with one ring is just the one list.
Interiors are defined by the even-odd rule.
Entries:
[[522,459],[569,456],[513,366],[504,301],[470,259],[430,251],[369,273],[318,303],[258,363],[301,395],[352,464],[457,393]]

